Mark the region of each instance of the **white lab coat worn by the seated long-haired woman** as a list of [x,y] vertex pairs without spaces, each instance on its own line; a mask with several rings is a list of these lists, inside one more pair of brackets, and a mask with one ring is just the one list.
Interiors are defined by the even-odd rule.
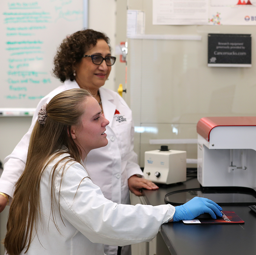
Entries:
[[[36,225],[38,238],[35,236],[26,255],[103,255],[102,243],[124,246],[150,241],[158,233],[161,224],[172,219],[175,207],[169,204],[133,206],[117,204],[106,199],[101,189],[87,178],[88,174],[83,166],[73,161],[67,163],[61,184],[61,216],[58,201],[54,205],[55,220],[60,230],[58,232],[51,215],[49,180],[55,163],[67,155],[62,154],[52,161],[42,176],[42,221]],[[62,169],[56,175],[56,199],[61,173]],[[24,252],[25,250],[22,254]]]

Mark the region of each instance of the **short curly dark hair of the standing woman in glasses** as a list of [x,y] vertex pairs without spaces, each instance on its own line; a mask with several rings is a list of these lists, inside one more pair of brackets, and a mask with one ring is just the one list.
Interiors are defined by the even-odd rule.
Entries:
[[108,36],[92,29],[84,29],[67,36],[54,57],[53,75],[59,78],[61,82],[68,79],[75,80],[74,67],[81,61],[84,53],[90,49],[91,45],[95,46],[99,39],[105,40],[109,45]]

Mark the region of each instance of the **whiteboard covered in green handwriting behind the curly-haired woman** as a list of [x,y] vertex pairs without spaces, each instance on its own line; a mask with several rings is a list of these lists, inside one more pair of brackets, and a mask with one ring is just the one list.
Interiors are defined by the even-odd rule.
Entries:
[[61,84],[53,58],[83,28],[83,0],[5,0],[0,8],[0,108],[34,108]]

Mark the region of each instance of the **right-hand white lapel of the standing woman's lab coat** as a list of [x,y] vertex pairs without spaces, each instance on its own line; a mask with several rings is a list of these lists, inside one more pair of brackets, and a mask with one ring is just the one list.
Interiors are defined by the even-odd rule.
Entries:
[[101,96],[104,117],[108,119],[109,126],[112,126],[113,116],[115,115],[116,111],[114,98],[105,88],[99,88],[99,95]]

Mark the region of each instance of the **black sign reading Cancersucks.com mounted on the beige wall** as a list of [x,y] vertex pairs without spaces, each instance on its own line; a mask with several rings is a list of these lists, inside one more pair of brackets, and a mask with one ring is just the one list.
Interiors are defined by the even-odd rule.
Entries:
[[208,34],[208,66],[251,67],[251,35]]

